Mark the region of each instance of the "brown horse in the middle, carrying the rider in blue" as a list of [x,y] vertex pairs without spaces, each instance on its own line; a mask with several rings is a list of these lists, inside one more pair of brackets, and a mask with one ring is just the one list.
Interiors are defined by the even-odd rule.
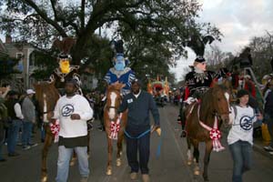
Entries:
[[[113,154],[113,143],[111,138],[111,122],[116,122],[118,116],[117,110],[121,104],[122,97],[120,90],[123,87],[122,84],[116,83],[111,86],[107,86],[106,92],[106,106],[104,108],[104,122],[106,127],[106,137],[108,143],[108,161],[106,168],[106,175],[112,175],[112,154]],[[124,138],[124,129],[126,127],[127,111],[121,114],[120,117],[120,128],[117,133],[117,152],[116,152],[116,166],[121,166],[121,155],[122,155],[122,142]]]

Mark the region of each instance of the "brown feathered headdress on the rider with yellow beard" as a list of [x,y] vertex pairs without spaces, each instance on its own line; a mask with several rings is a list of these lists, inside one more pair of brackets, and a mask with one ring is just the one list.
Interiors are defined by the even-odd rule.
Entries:
[[65,37],[63,40],[56,39],[53,42],[52,47],[56,47],[60,53],[58,54],[59,58],[69,58],[70,50],[76,45],[76,39],[73,37]]

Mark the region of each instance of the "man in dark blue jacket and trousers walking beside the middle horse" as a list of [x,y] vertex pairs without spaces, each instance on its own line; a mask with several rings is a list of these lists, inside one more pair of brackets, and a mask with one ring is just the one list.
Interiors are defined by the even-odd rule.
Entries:
[[[138,79],[132,81],[132,92],[123,98],[119,112],[128,109],[126,125],[126,156],[131,167],[130,177],[136,179],[140,168],[144,182],[149,182],[148,160],[150,153],[150,133],[159,130],[159,113],[153,96],[140,89]],[[152,112],[155,125],[150,126],[149,111]],[[137,161],[137,149],[139,162]]]

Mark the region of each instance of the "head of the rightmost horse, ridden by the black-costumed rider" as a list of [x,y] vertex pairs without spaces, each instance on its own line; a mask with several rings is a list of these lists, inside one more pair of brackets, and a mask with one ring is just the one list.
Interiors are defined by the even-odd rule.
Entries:
[[229,122],[229,99],[230,94],[226,86],[216,85],[212,88],[211,101],[213,103],[215,115],[225,124]]

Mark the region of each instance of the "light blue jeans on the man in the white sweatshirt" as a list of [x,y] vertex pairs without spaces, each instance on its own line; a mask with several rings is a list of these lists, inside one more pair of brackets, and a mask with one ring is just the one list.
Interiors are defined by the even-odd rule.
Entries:
[[69,171],[69,161],[72,157],[73,151],[76,152],[78,159],[78,169],[82,177],[89,176],[87,147],[66,148],[59,146],[58,162],[57,162],[57,176],[56,182],[66,182]]

